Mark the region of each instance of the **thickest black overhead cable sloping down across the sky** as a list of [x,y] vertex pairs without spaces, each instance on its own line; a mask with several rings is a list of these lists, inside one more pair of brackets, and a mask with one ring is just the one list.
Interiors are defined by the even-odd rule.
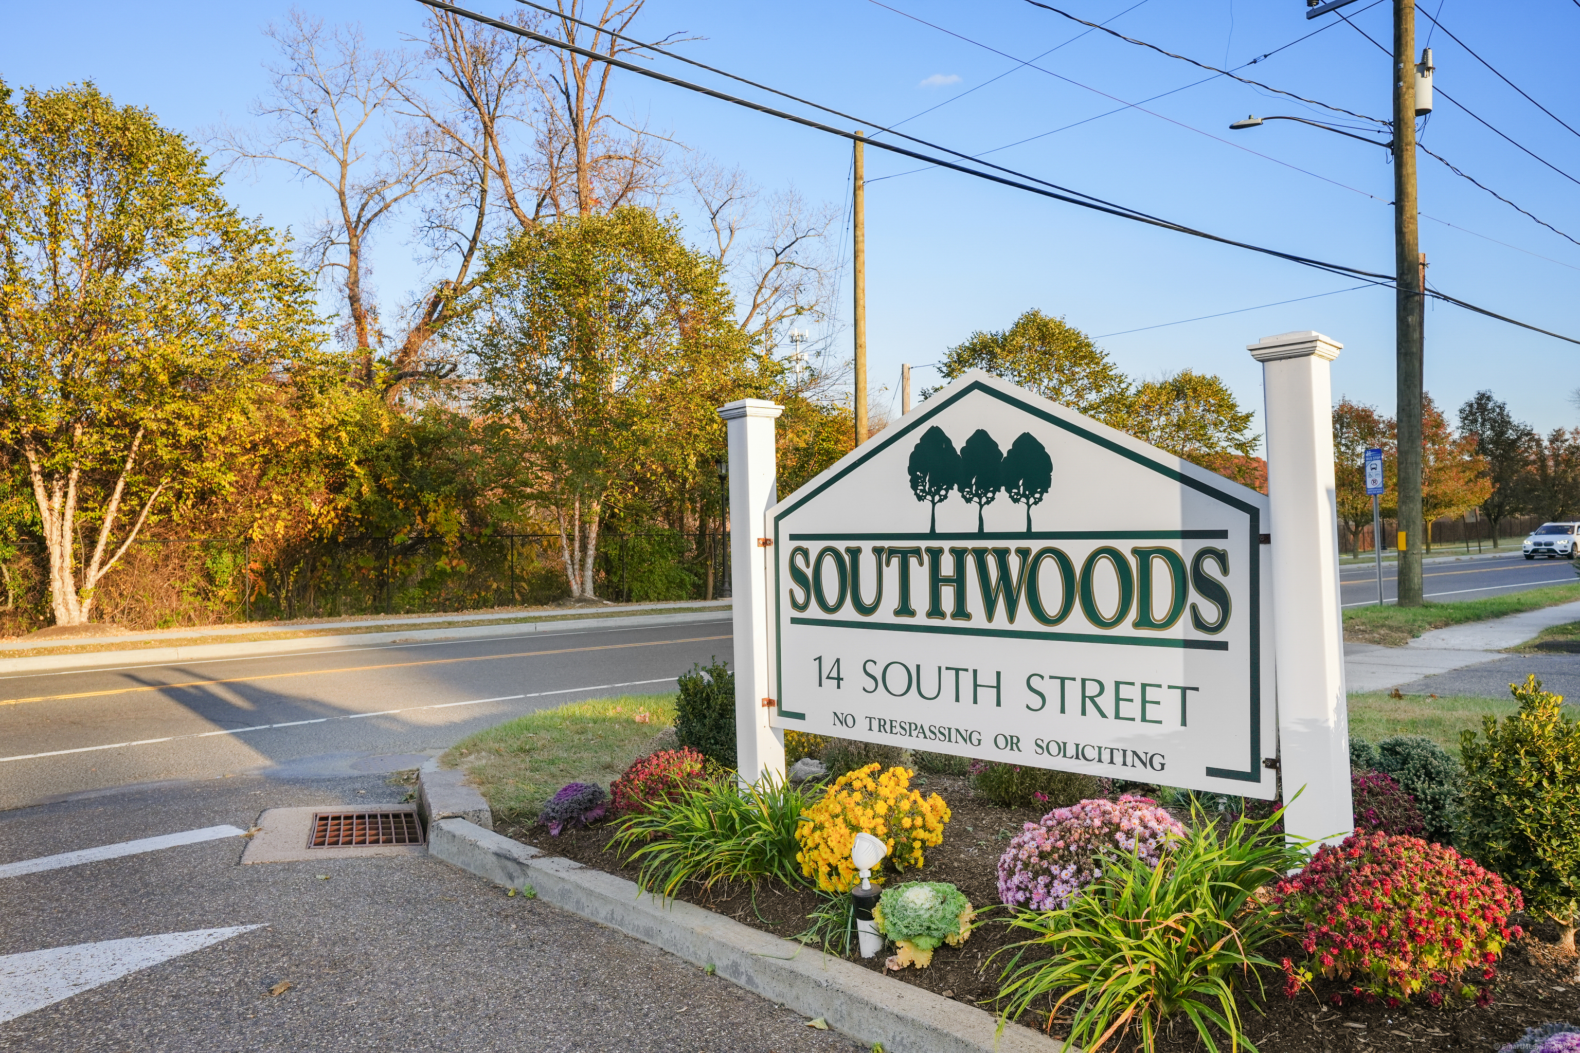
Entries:
[[[1577,0],[1577,2],[1580,2],[1580,0]],[[779,117],[781,120],[788,120],[788,122],[801,125],[804,128],[814,128],[817,131],[836,136],[839,139],[848,139],[848,141],[853,142],[858,137],[856,133],[853,133],[853,131],[845,131],[842,128],[834,128],[831,125],[823,125],[823,123],[811,120],[807,117],[798,117],[795,114],[787,114],[784,111],[773,109],[771,106],[763,106],[762,103],[754,103],[750,99],[743,99],[739,96],[728,95],[728,93],[719,92],[716,88],[703,87],[700,84],[690,84],[689,81],[681,81],[679,77],[672,77],[672,76],[659,73],[656,69],[645,69],[643,66],[638,66],[635,63],[626,62],[623,58],[615,58],[611,55],[605,55],[605,54],[600,54],[600,52],[596,52],[596,51],[589,51],[586,47],[578,47],[577,44],[570,44],[570,43],[558,39],[555,36],[547,36],[544,33],[537,33],[537,32],[523,28],[520,25],[510,25],[509,22],[502,22],[499,19],[493,19],[493,17],[488,17],[485,14],[477,14],[476,11],[468,11],[466,8],[458,8],[458,6],[452,5],[452,3],[446,3],[446,0],[419,0],[419,3],[423,3],[423,5],[430,6],[430,8],[438,9],[438,11],[449,11],[450,14],[458,14],[461,17],[471,19],[471,21],[479,22],[482,25],[491,25],[491,27],[495,27],[498,30],[504,30],[506,33],[512,33],[515,36],[525,36],[525,38],[537,41],[540,44],[548,44],[550,47],[558,47],[561,51],[569,51],[569,52],[581,55],[585,58],[594,58],[597,62],[602,62],[602,63],[607,63],[610,66],[615,66],[616,69],[626,69],[629,73],[635,73],[638,76],[649,77],[653,81],[662,81],[664,84],[670,84],[670,85],[675,85],[675,87],[679,87],[679,88],[686,88],[689,92],[697,92],[698,95],[706,95],[709,98],[716,98],[716,99],[720,99],[724,103],[730,103],[733,106],[741,106],[744,109],[757,111],[760,114],[768,114],[769,117]],[[653,47],[651,44],[645,44],[645,47],[649,47],[653,51],[660,51],[662,52],[662,49]],[[662,54],[668,54],[668,52],[662,52]],[[694,65],[702,65],[702,63],[694,63]],[[735,77],[735,74],[724,74],[724,76]],[[735,79],[736,81],[744,81],[744,77],[735,77]],[[768,90],[769,92],[776,92],[774,88],[768,88]],[[782,92],[776,92],[776,93],[784,95]],[[818,107],[818,109],[826,109],[826,107]],[[850,120],[858,120],[860,122],[860,118],[855,118],[855,117],[852,117]],[[867,123],[867,122],[861,122],[861,123]],[[915,139],[913,136],[905,136],[905,137],[907,139]],[[918,142],[924,142],[924,141],[918,141]],[[1335,275],[1341,275],[1341,276],[1343,275],[1352,275],[1352,276],[1357,276],[1357,278],[1376,279],[1376,281],[1370,281],[1368,283],[1368,284],[1375,284],[1375,286],[1392,286],[1395,283],[1394,275],[1382,275],[1382,273],[1378,273],[1378,272],[1360,270],[1359,267],[1346,267],[1343,264],[1329,264],[1329,262],[1311,259],[1311,257],[1307,257],[1307,256],[1297,256],[1294,253],[1283,253],[1280,249],[1272,249],[1272,248],[1266,248],[1266,246],[1261,246],[1261,245],[1251,245],[1248,242],[1236,242],[1234,238],[1226,238],[1226,237],[1221,237],[1221,235],[1217,235],[1217,234],[1209,234],[1206,230],[1198,230],[1194,227],[1187,227],[1187,226],[1179,224],[1179,223],[1172,223],[1172,221],[1168,221],[1168,219],[1160,219],[1157,216],[1150,216],[1150,215],[1147,215],[1144,212],[1139,212],[1136,208],[1128,208],[1125,205],[1117,205],[1117,204],[1103,200],[1100,197],[1095,197],[1092,194],[1082,194],[1081,191],[1055,193],[1052,189],[1043,189],[1043,186],[1054,186],[1054,183],[1048,183],[1046,180],[1038,180],[1035,177],[1024,175],[1024,174],[1019,174],[1019,172],[1014,172],[1014,175],[1018,175],[1021,178],[1032,180],[1035,183],[1043,183],[1043,186],[1033,186],[1030,183],[1022,183],[1022,182],[1018,182],[1018,180],[1013,180],[1013,178],[1006,178],[1003,175],[994,175],[992,172],[981,172],[978,169],[970,169],[970,167],[965,167],[964,164],[956,164],[953,161],[939,161],[935,158],[929,158],[927,155],[916,153],[915,150],[907,150],[904,147],[897,147],[897,145],[890,144],[890,142],[869,142],[869,145],[872,145],[877,150],[888,150],[890,153],[899,153],[899,155],[904,155],[904,156],[908,156],[908,158],[915,158],[918,161],[934,161],[935,164],[940,164],[940,166],[948,167],[948,169],[954,169],[956,172],[962,172],[965,175],[975,175],[976,178],[988,180],[991,183],[999,183],[1002,186],[1013,186],[1014,189],[1024,189],[1024,191],[1036,194],[1040,197],[1051,197],[1054,200],[1062,200],[1065,204],[1070,204],[1070,205],[1078,205],[1081,208],[1090,208],[1092,212],[1101,212],[1101,213],[1106,213],[1106,215],[1111,215],[1111,216],[1119,216],[1120,219],[1130,219],[1133,223],[1144,223],[1147,226],[1155,226],[1155,227],[1161,227],[1161,229],[1166,229],[1166,230],[1174,230],[1177,234],[1188,234],[1191,237],[1199,237],[1199,238],[1207,240],[1207,242],[1217,242],[1220,245],[1229,245],[1229,246],[1234,246],[1234,248],[1243,248],[1243,249],[1251,251],[1251,253],[1261,253],[1264,256],[1273,256],[1277,259],[1286,259],[1286,260],[1289,260],[1292,264],[1300,264],[1304,267],[1311,267],[1311,268],[1316,268],[1316,270],[1326,270],[1329,273],[1335,273]],[[932,145],[932,144],[927,144],[927,145]],[[937,147],[937,148],[943,148],[943,147]],[[948,153],[953,153],[956,156],[964,156],[964,155],[959,155],[954,150],[948,150]],[[991,167],[999,167],[999,166],[991,166]],[[1011,171],[1011,169],[1002,169],[1002,171]],[[1059,189],[1065,189],[1065,188],[1059,188]],[[1085,197],[1087,200],[1081,200],[1079,197],[1071,197],[1070,194],[1079,194],[1079,197]],[[1531,325],[1529,322],[1520,322],[1520,320],[1507,317],[1504,314],[1498,314],[1495,311],[1488,311],[1487,308],[1479,308],[1479,306],[1476,306],[1473,303],[1468,303],[1465,300],[1458,300],[1458,298],[1450,297],[1450,295],[1447,295],[1444,292],[1430,290],[1430,292],[1425,292],[1422,295],[1431,295],[1431,297],[1436,297],[1436,298],[1444,300],[1447,303],[1454,303],[1457,306],[1462,306],[1466,311],[1474,311],[1477,314],[1485,314],[1487,317],[1493,317],[1493,319],[1498,319],[1501,322],[1507,322],[1509,325],[1517,325],[1520,328],[1528,328],[1531,332],[1542,333],[1545,336],[1553,336],[1555,339],[1563,339],[1563,341],[1567,341],[1571,344],[1580,344],[1580,339],[1575,339],[1572,336],[1563,336],[1561,333],[1553,333],[1552,330],[1545,330],[1545,328],[1540,328],[1537,325]]]

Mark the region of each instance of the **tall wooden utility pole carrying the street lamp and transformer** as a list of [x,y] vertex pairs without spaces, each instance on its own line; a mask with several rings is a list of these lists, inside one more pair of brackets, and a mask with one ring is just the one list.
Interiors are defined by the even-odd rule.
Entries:
[[1416,229],[1416,0],[1394,0],[1394,355],[1398,418],[1398,603],[1420,606],[1422,267]]

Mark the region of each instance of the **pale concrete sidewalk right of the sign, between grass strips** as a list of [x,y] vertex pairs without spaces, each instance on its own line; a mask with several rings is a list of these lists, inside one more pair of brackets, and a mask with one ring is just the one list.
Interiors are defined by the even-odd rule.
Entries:
[[1463,669],[1507,655],[1544,628],[1580,622],[1580,603],[1561,603],[1488,622],[1450,625],[1422,633],[1403,647],[1345,644],[1345,690],[1386,691],[1424,676]]

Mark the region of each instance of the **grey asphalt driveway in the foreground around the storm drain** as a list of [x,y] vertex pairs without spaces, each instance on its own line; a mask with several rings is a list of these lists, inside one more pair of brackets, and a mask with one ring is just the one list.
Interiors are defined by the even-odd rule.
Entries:
[[[215,824],[245,829],[267,807],[393,804],[403,793],[384,775],[243,775],[0,811],[0,865]],[[239,865],[242,848],[228,837],[0,876],[0,1017],[38,982],[28,960],[9,955],[256,927],[0,1023],[0,1050],[856,1048],[694,965],[507,898],[428,856]],[[98,954],[93,968],[123,952]]]

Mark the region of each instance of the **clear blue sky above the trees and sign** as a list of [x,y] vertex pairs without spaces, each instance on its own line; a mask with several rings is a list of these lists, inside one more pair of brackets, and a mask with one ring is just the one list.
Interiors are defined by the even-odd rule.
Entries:
[[[700,36],[683,46],[687,55],[875,125],[946,103],[904,125],[905,131],[969,153],[1040,136],[991,158],[1237,240],[1365,270],[1392,270],[1392,169],[1386,152],[1292,122],[1228,131],[1231,120],[1251,112],[1327,118],[1327,111],[1217,77],[1147,103],[1150,112],[1131,107],[1085,120],[1207,74],[1101,33],[1071,39],[1084,27],[1024,0],[885,3],[648,0],[637,33],[649,39],[672,32]],[[1055,0],[1054,6],[1104,21],[1133,3]],[[416,0],[300,6],[332,22],[359,21],[370,38],[389,46],[398,46],[403,33],[419,33],[425,11]],[[474,6],[493,11],[509,5],[495,0]],[[248,120],[250,99],[267,87],[262,63],[270,51],[259,30],[288,8],[275,0],[246,6],[88,2],[74,5],[70,19],[62,19],[60,8],[17,6],[8,11],[8,33],[0,39],[0,77],[11,85],[93,79],[117,101],[147,106],[169,126],[198,136],[220,120]],[[1356,13],[1356,25],[1387,43],[1389,8],[1368,8],[1368,0],[1360,0],[1346,13]],[[1555,60],[1559,52],[1540,44],[1575,39],[1580,5],[1441,0],[1439,6],[1439,0],[1424,0],[1424,9],[1580,128],[1575,65]],[[1146,0],[1112,27],[1201,62],[1239,66],[1337,21],[1324,16],[1308,22],[1304,13],[1300,0]],[[1419,41],[1425,41],[1428,28],[1420,17]],[[1041,69],[1016,68],[1016,60],[1065,41],[1036,62]],[[1544,51],[1533,52],[1533,43]],[[1504,134],[1580,178],[1580,136],[1498,81],[1444,33],[1433,35],[1431,47],[1439,92],[1447,90]],[[678,63],[659,60],[657,68],[722,90],[738,87]],[[1389,115],[1387,57],[1349,25],[1334,25],[1240,73],[1359,114]],[[969,88],[978,90],[962,95]],[[812,200],[841,207],[847,200],[845,141],[635,76],[621,76],[618,92],[619,112],[646,118],[686,148],[739,164],[766,188],[795,186]],[[1076,126],[1054,131],[1066,125]],[[1441,93],[1424,142],[1580,238],[1580,185],[1499,139]],[[1338,292],[1123,333],[1357,283],[948,171],[902,175],[915,167],[905,158],[867,152],[874,387],[894,387],[902,362],[939,362],[948,346],[973,330],[1003,328],[1035,306],[1103,336],[1100,344],[1131,374],[1155,376],[1182,366],[1217,373],[1242,403],[1258,409],[1259,366],[1245,344],[1315,328],[1345,344],[1334,363],[1335,396],[1345,393],[1392,412],[1392,292]],[[305,227],[324,204],[318,191],[289,182],[283,172],[264,172],[258,182],[232,178],[228,193],[245,212],[295,229]],[[1420,210],[1428,279],[1436,287],[1580,336],[1580,297],[1574,295],[1580,246],[1425,156]],[[393,303],[419,276],[412,248],[387,237],[378,249],[376,272],[386,300]],[[848,290],[848,281],[842,290]],[[841,309],[836,324],[845,325],[848,305],[841,303]],[[848,346],[848,330],[839,339]],[[1427,388],[1449,410],[1476,390],[1492,388],[1515,415],[1540,429],[1580,423],[1580,410],[1569,404],[1569,393],[1580,385],[1577,352],[1574,344],[1449,305],[1433,305],[1427,313]],[[926,369],[918,371],[918,384],[931,379]]]

